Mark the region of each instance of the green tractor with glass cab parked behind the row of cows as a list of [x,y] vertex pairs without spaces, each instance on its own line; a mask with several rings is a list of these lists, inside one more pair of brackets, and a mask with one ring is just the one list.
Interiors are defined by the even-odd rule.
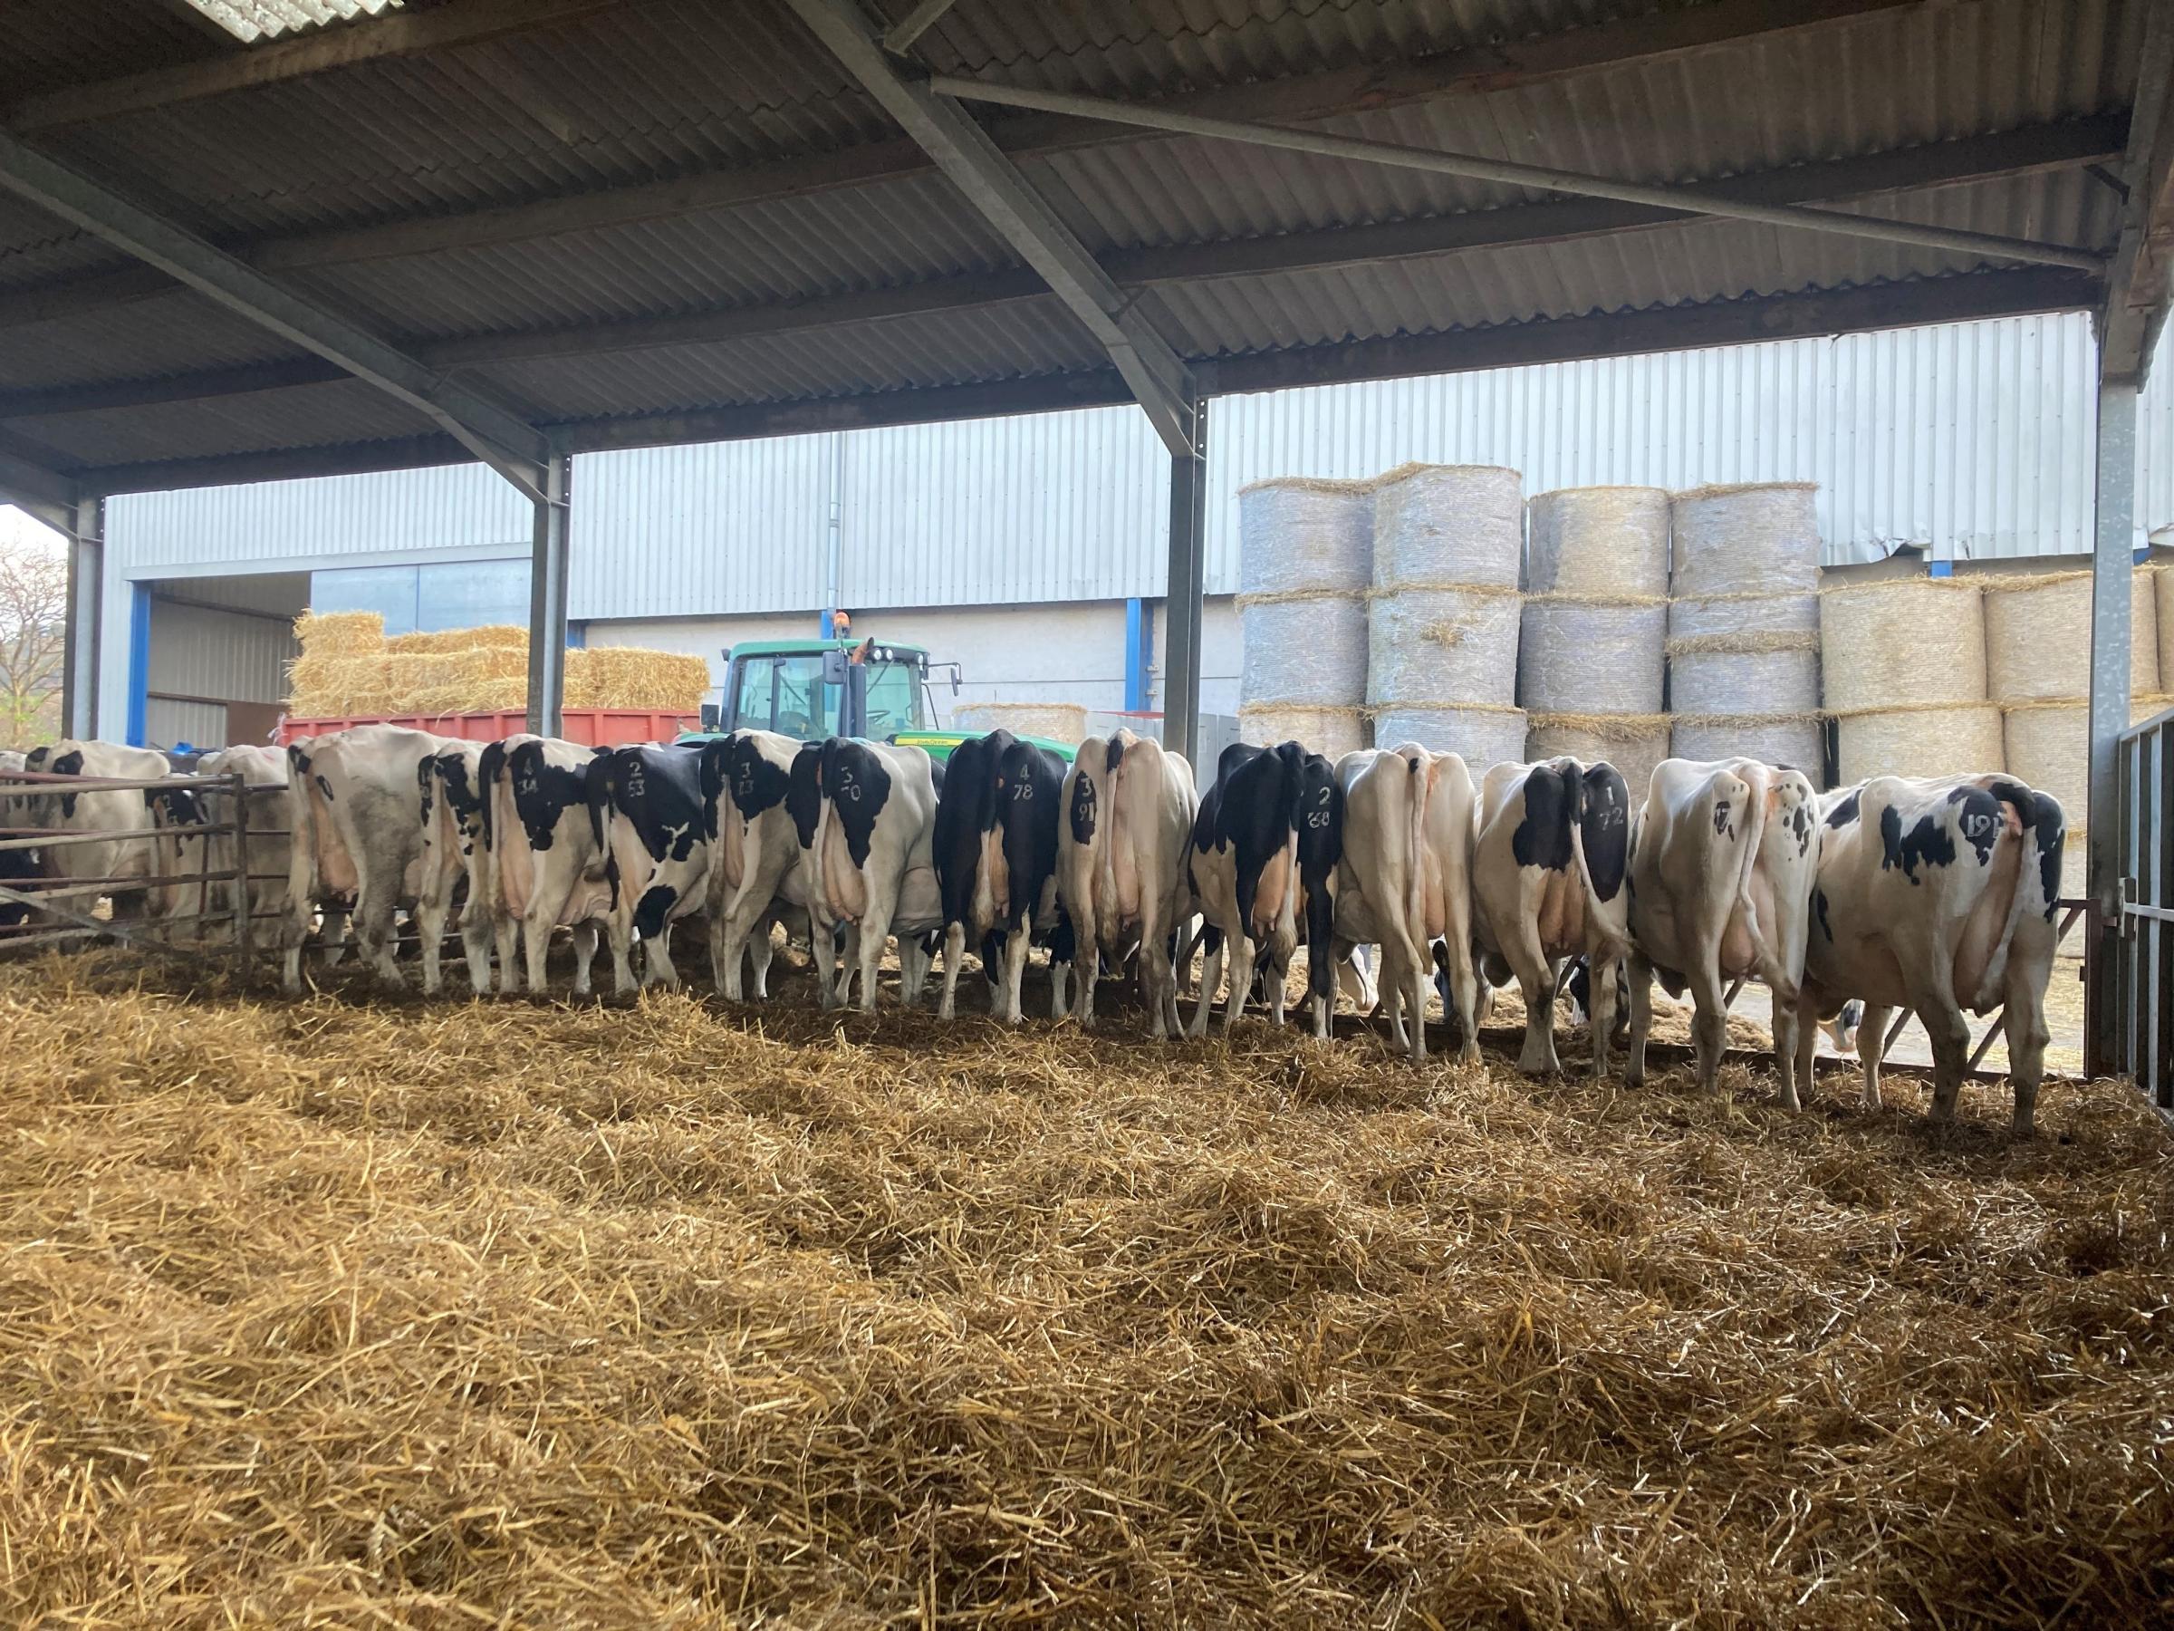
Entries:
[[[950,670],[959,689],[959,665]],[[880,639],[744,639],[726,652],[724,702],[715,722],[704,713],[702,731],[680,733],[680,742],[704,742],[726,731],[776,731],[800,742],[865,737],[926,748],[930,759],[950,750],[972,731],[937,729],[935,689],[928,683],[928,652]],[[1024,737],[1065,763],[1076,744]]]

